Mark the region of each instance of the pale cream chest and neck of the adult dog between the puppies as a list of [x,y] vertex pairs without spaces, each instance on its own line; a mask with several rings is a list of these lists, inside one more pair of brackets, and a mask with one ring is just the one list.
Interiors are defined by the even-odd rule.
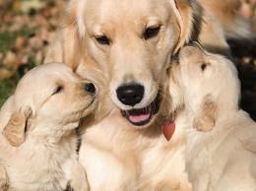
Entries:
[[[80,75],[88,78],[84,70],[82,66],[78,69]],[[99,91],[105,89],[104,86]],[[163,100],[167,101],[164,97]],[[162,104],[168,103],[165,101]],[[170,118],[164,106],[155,124],[136,129],[121,116],[111,100],[100,98],[99,102],[110,108],[110,113],[93,125],[88,125],[88,120],[81,125],[86,130],[79,160],[85,166],[92,191],[191,190],[182,155],[184,131],[177,129],[170,142],[165,140],[160,128],[162,122]],[[99,112],[105,112],[105,108],[99,106]]]

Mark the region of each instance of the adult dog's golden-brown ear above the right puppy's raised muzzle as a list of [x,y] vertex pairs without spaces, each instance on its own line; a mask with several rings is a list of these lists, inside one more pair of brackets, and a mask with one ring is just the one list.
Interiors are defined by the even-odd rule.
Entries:
[[180,35],[174,50],[176,53],[184,44],[197,40],[201,31],[203,8],[195,0],[170,0]]

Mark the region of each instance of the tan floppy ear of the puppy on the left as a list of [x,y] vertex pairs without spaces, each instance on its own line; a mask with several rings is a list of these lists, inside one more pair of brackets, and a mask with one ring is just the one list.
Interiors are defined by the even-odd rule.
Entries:
[[25,142],[25,134],[29,128],[28,119],[31,115],[31,108],[12,113],[11,118],[3,130],[3,135],[12,146],[19,147]]

